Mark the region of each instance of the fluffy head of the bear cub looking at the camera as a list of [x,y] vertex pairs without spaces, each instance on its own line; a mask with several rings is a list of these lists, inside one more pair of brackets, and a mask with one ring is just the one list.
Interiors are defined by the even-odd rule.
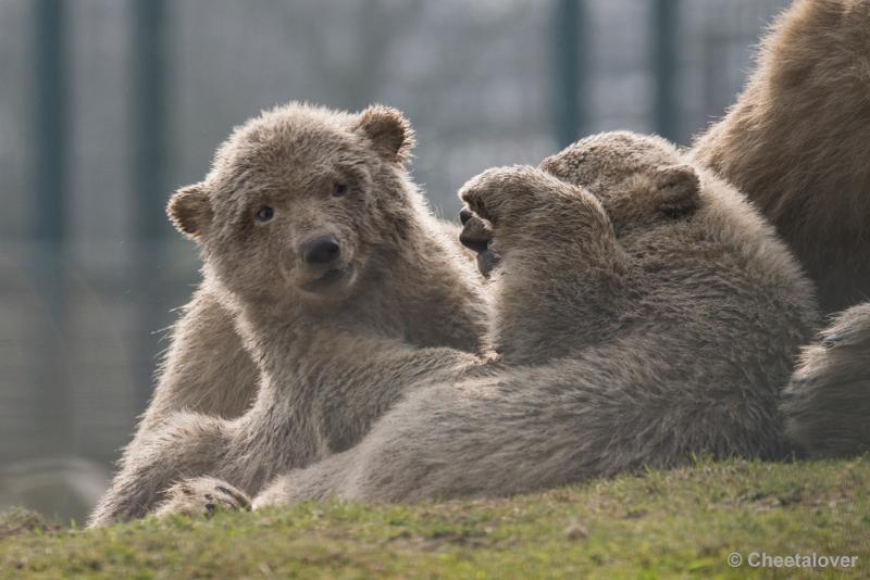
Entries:
[[419,196],[406,169],[412,147],[395,109],[290,103],[237,127],[206,179],[178,190],[167,213],[244,300],[344,300],[386,238],[401,238]]

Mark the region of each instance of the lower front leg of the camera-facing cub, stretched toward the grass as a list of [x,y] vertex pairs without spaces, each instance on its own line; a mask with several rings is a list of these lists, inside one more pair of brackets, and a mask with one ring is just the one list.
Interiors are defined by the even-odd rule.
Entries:
[[233,441],[225,421],[195,413],[171,417],[164,428],[142,441],[136,456],[115,476],[89,526],[145,516],[177,481],[213,475],[228,449]]

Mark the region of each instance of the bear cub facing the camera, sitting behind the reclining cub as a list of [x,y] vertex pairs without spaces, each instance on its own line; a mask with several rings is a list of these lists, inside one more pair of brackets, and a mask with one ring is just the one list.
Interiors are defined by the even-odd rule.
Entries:
[[[403,350],[433,360],[440,345],[478,350],[488,302],[408,177],[411,143],[395,110],[290,104],[238,128],[206,180],[174,196],[170,216],[201,244],[204,281],[94,522],[145,514],[181,475],[256,492],[356,443],[401,393],[389,376]],[[324,238],[340,254],[310,263],[306,249]],[[331,337],[341,336],[358,345],[341,356],[368,368],[355,381],[333,361]],[[375,338],[393,351],[370,353]],[[257,374],[244,415],[213,413],[241,413]]]

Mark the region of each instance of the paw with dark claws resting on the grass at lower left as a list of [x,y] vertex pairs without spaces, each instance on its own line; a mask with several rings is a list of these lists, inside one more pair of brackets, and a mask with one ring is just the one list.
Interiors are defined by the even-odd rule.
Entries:
[[248,495],[213,477],[179,481],[166,491],[166,500],[158,507],[158,517],[173,514],[211,517],[219,510],[250,510]]

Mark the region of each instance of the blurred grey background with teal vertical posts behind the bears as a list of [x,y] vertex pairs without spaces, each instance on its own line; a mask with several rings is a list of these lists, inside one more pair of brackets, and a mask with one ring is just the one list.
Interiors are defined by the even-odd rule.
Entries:
[[600,130],[687,144],[787,0],[0,0],[0,510],[82,521],[197,281],[163,206],[291,99],[405,111],[452,217]]

